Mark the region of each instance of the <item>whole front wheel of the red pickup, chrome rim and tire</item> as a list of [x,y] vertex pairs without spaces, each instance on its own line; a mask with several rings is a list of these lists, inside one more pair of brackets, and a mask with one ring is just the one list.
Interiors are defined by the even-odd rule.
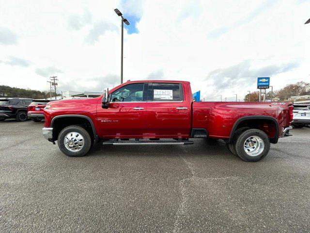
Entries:
[[84,128],[78,125],[70,125],[59,133],[57,143],[65,155],[80,157],[91,149],[92,139]]

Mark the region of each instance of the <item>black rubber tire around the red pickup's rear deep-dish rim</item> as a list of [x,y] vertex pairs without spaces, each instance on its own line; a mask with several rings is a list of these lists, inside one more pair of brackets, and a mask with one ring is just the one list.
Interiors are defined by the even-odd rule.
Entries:
[[[244,149],[246,140],[251,136],[256,136],[263,141],[263,150],[255,156],[248,155],[248,153]],[[250,129],[244,131],[238,136],[236,142],[233,144],[233,149],[242,160],[247,162],[257,162],[262,160],[268,154],[270,150],[270,141],[267,134],[263,131],[257,129]]]

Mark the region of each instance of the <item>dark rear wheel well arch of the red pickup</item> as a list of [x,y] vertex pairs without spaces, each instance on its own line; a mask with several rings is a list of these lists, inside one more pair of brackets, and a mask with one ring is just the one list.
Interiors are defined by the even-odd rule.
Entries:
[[277,143],[278,142],[278,134],[279,134],[279,126],[278,123],[275,122],[273,119],[263,118],[252,118],[252,119],[245,119],[236,125],[236,127],[233,127],[230,140],[233,138],[235,132],[237,132],[239,129],[258,129],[263,131],[267,134],[268,138],[270,139],[271,143]]

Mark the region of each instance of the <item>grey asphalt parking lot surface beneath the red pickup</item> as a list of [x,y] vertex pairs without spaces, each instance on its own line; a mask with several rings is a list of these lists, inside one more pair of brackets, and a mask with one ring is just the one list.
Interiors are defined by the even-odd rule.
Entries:
[[309,232],[310,128],[260,162],[223,141],[62,154],[42,122],[0,122],[0,232]]

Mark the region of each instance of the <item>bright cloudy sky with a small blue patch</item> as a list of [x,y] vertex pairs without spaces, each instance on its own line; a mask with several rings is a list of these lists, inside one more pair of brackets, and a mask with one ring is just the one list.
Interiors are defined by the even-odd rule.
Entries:
[[[0,0],[0,84],[102,91],[186,80],[205,100],[243,99],[257,77],[310,82],[310,0]],[[238,99],[239,99],[238,98]]]

